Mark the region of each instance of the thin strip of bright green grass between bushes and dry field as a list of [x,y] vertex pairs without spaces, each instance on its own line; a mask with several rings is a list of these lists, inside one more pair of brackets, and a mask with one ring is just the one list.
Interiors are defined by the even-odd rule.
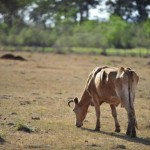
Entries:
[[[53,52],[58,54],[77,53],[77,54],[103,54],[102,48],[91,47],[35,47],[35,46],[1,46],[0,50],[5,51],[30,51],[30,52]],[[150,49],[106,49],[106,55],[113,56],[150,56]]]

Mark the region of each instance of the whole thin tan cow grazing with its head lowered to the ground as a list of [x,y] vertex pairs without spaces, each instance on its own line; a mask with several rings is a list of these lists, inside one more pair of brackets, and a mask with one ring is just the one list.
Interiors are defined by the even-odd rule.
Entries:
[[126,135],[136,137],[137,121],[134,109],[135,89],[139,77],[131,68],[102,66],[96,67],[88,76],[81,100],[74,98],[76,126],[81,127],[87,115],[89,106],[95,107],[96,127],[100,131],[100,105],[108,103],[115,122],[115,132],[120,132],[116,106],[121,104],[127,111],[128,127]]

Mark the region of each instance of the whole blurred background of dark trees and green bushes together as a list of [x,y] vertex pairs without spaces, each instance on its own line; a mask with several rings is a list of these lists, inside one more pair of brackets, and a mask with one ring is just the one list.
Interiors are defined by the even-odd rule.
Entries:
[[150,1],[105,0],[109,20],[89,20],[103,0],[0,0],[0,46],[150,47]]

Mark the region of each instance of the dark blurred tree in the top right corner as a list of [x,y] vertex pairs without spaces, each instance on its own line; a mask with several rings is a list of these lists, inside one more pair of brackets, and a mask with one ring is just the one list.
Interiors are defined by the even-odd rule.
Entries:
[[125,20],[145,21],[150,14],[149,0],[107,0],[106,5],[111,14]]

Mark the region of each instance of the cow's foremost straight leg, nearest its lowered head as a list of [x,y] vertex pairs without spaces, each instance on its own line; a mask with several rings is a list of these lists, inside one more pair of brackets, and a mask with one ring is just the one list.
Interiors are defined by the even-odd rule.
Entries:
[[100,106],[98,104],[95,105],[95,111],[96,111],[96,127],[95,127],[95,131],[100,131]]

